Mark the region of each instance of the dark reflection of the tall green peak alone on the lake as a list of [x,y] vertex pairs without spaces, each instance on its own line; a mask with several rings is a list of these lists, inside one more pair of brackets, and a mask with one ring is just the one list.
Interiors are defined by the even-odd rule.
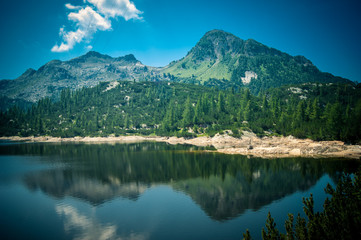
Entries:
[[286,195],[307,190],[317,180],[317,176],[302,176],[289,169],[273,172],[260,168],[249,179],[240,171],[224,178],[189,179],[176,183],[175,187],[189,194],[213,219],[228,220],[247,209],[257,210]]

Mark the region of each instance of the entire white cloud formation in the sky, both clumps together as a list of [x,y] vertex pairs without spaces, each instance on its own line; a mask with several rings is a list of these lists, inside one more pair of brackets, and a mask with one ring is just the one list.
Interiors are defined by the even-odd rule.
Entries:
[[65,4],[70,11],[68,20],[75,23],[74,29],[66,30],[64,26],[60,28],[62,42],[60,45],[55,44],[52,52],[66,52],[73,49],[77,43],[89,42],[97,31],[111,30],[111,21],[116,21],[119,17],[126,21],[142,19],[142,12],[129,0],[84,0],[84,4]]

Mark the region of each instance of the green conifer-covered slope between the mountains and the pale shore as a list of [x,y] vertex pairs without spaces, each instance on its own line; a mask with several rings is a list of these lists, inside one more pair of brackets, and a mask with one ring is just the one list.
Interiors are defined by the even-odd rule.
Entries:
[[213,136],[242,130],[360,143],[361,86],[309,83],[252,94],[175,82],[105,82],[0,115],[3,136]]

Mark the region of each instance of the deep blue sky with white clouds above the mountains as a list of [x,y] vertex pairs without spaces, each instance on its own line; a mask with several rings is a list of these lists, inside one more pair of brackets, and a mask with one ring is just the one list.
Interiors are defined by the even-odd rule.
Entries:
[[165,66],[221,29],[361,82],[360,13],[359,0],[4,0],[0,79],[89,50]]

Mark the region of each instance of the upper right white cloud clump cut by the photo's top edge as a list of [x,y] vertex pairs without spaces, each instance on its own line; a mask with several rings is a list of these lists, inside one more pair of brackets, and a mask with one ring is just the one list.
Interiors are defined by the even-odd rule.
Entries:
[[89,3],[97,7],[99,12],[109,17],[124,17],[129,19],[142,19],[139,11],[133,2],[129,0],[88,0]]

